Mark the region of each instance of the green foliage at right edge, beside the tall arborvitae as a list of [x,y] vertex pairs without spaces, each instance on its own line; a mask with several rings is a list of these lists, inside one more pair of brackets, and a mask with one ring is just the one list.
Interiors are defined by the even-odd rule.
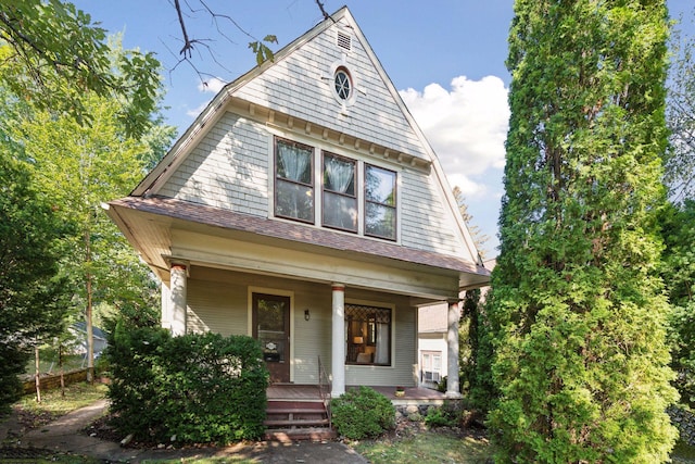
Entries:
[[659,223],[666,244],[661,275],[671,303],[668,338],[674,386],[681,402],[695,409],[695,201],[664,209]]

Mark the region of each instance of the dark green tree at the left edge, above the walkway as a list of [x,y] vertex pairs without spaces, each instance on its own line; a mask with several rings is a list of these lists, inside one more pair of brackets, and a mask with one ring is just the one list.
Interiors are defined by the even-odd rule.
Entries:
[[0,414],[21,392],[37,339],[55,335],[66,308],[56,242],[70,223],[33,187],[30,173],[0,146]]

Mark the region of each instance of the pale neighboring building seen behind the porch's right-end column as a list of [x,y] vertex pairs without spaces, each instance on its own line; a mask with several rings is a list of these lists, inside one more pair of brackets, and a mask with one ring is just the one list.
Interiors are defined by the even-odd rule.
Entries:
[[[484,263],[486,269],[495,267],[496,260]],[[481,287],[480,302],[484,302],[489,286]],[[460,293],[460,299],[465,291]],[[460,312],[458,313],[460,318]],[[420,386],[439,387],[439,383],[448,376],[448,306],[438,303],[418,309],[418,360]],[[460,361],[460,360],[459,360]]]

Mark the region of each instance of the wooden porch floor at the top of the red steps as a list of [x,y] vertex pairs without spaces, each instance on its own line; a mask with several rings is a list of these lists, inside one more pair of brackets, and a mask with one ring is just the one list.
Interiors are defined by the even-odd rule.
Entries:
[[[346,389],[356,388],[348,386]],[[394,387],[371,387],[379,393],[387,397],[395,405],[408,404],[434,404],[444,403],[446,396],[440,391],[430,388],[406,387],[403,397],[395,396]],[[266,390],[268,400],[290,400],[290,401],[320,401],[321,396],[317,385],[294,385],[294,384],[274,384]]]

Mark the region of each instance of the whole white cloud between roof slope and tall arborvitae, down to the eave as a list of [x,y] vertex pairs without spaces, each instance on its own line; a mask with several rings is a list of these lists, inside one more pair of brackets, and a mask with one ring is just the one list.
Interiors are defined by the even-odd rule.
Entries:
[[452,79],[451,90],[430,84],[420,92],[401,96],[432,145],[450,186],[462,190],[472,224],[490,237],[488,256],[497,246],[497,214],[502,197],[507,137],[508,89],[495,76]]

